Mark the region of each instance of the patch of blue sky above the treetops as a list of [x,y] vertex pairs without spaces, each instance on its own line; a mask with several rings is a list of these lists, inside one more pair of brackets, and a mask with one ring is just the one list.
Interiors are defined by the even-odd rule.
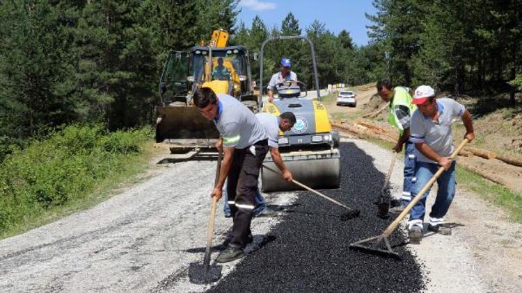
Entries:
[[285,16],[292,12],[299,20],[303,33],[317,19],[335,34],[346,29],[358,45],[368,42],[366,26],[371,23],[365,12],[375,14],[372,0],[241,0],[239,7],[242,9],[239,20],[244,21],[248,28],[255,15],[259,15],[269,28],[274,24],[280,28]]

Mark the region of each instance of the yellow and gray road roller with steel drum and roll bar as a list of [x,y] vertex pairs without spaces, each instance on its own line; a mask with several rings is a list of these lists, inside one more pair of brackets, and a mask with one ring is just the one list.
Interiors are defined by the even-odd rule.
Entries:
[[[276,86],[277,97],[264,103],[263,112],[280,115],[293,112],[296,124],[290,131],[280,132],[279,151],[283,162],[297,181],[315,189],[338,188],[340,184],[339,134],[332,131],[326,107],[321,102],[317,64],[313,43],[303,36],[279,36],[265,40],[260,51],[260,89],[263,89],[263,55],[268,42],[300,39],[308,42],[317,97],[308,97],[307,86],[301,81],[285,81]],[[310,94],[311,96],[311,94]],[[299,186],[283,179],[273,160],[267,155],[262,169],[262,192],[299,190]]]

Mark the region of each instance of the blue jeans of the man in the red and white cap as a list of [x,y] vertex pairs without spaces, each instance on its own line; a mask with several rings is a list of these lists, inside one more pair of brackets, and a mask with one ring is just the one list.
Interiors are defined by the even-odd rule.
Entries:
[[[413,177],[413,189],[411,190],[411,196],[416,196],[422,187],[428,183],[429,179],[434,176],[440,166],[429,162],[417,162],[415,165],[415,177]],[[437,179],[438,191],[435,203],[432,206],[432,212],[429,213],[429,224],[436,226],[443,224],[443,217],[450,208],[453,197],[455,196],[455,161],[451,163],[450,169],[444,171]],[[430,187],[420,201],[411,209],[410,219],[408,221],[408,227],[420,226],[424,221],[424,215],[426,212],[426,198],[429,191],[432,190]]]

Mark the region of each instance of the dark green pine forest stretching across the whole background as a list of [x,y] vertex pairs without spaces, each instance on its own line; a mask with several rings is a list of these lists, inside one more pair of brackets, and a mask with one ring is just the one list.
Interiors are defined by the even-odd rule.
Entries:
[[[260,17],[237,21],[237,0],[0,1],[0,161],[72,123],[109,129],[152,125],[157,83],[169,49],[232,33],[252,53],[271,35],[306,35],[315,44],[319,81],[358,85],[390,77],[457,93],[511,92],[522,87],[522,1],[374,0],[369,44],[292,14],[269,27]],[[281,57],[309,86],[303,42],[267,47],[265,72]],[[253,76],[259,78],[258,61]],[[266,81],[265,81],[266,84]],[[514,103],[514,98],[512,102]]]

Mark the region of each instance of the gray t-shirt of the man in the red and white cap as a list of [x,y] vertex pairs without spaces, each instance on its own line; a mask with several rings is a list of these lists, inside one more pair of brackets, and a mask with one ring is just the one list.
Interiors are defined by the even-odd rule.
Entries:
[[[451,125],[453,119],[461,117],[466,108],[453,99],[436,99],[439,117],[434,122],[431,117],[425,117],[420,110],[415,110],[411,117],[410,141],[425,142],[439,156],[448,157],[454,150]],[[417,161],[433,162],[426,158],[418,149],[415,150]]]

